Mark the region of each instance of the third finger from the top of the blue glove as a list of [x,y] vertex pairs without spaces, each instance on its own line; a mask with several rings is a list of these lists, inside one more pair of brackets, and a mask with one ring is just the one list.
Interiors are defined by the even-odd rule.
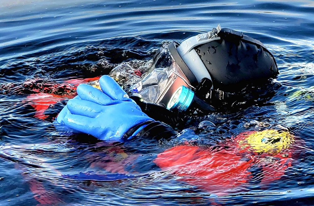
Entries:
[[82,99],[70,99],[67,104],[71,114],[95,118],[101,113],[102,108],[99,104]]

